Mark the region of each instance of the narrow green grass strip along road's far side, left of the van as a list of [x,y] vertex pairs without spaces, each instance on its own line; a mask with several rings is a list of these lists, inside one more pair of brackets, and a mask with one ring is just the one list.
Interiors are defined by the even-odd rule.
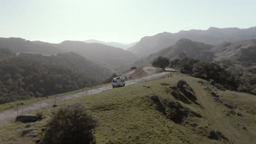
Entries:
[[104,85],[107,85],[107,84],[102,84],[102,85],[98,85],[98,86],[94,86],[94,87],[86,87],[86,88],[78,89],[78,90],[75,90],[75,91],[72,91],[72,92],[50,95],[48,97],[43,97],[43,98],[32,98],[32,99],[28,99],[28,100],[19,100],[19,101],[14,101],[14,102],[11,102],[11,103],[1,104],[0,105],[0,112],[4,111],[4,110],[9,110],[9,109],[16,109],[19,106],[31,104],[31,103],[34,103],[36,101],[45,100],[45,99],[52,99],[52,98],[55,98],[55,96],[56,97],[61,97],[62,95],[66,95],[66,94],[73,94],[73,93],[88,91],[89,89],[102,87]]

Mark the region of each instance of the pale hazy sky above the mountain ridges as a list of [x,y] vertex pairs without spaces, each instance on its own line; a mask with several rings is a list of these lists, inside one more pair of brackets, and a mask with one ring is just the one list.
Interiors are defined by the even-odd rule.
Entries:
[[255,0],[0,0],[0,37],[131,43],[161,32],[256,26],[255,5]]

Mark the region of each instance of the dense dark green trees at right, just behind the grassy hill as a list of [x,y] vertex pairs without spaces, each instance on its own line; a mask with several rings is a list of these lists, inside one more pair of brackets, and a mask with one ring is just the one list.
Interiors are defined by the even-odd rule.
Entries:
[[[225,65],[230,67],[222,67]],[[174,59],[170,67],[180,69],[183,74],[214,80],[217,82],[214,86],[219,89],[228,88],[238,92],[256,94],[256,68],[236,70],[229,60],[211,63],[188,57]]]

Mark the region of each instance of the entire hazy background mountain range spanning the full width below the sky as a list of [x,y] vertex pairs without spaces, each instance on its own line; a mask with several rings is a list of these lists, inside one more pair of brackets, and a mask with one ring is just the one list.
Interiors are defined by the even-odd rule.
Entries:
[[[188,57],[203,61],[230,59],[232,62],[254,63],[256,44],[253,39],[256,39],[256,27],[246,29],[210,27],[207,30],[191,29],[178,33],[159,33],[143,37],[138,43],[130,45],[98,40],[66,40],[60,44],[52,44],[22,38],[0,38],[0,49],[44,55],[74,52],[113,72],[121,72],[130,66],[150,64],[157,56],[174,59],[181,52]],[[129,49],[123,50],[129,46],[131,46]]]

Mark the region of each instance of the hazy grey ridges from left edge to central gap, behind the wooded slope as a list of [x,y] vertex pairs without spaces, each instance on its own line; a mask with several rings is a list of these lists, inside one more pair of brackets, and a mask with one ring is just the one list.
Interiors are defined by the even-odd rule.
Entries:
[[102,65],[113,72],[127,62],[135,61],[137,57],[129,51],[118,47],[83,41],[63,41],[60,44],[30,41],[21,38],[0,38],[0,49],[9,49],[12,52],[43,53],[56,55],[57,53],[74,52],[84,56],[92,62]]

